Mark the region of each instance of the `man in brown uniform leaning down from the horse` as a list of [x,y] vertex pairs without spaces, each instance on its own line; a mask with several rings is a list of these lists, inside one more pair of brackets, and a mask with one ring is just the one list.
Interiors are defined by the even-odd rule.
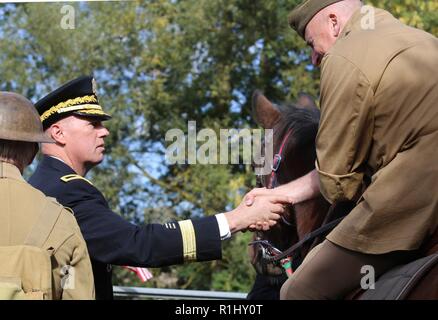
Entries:
[[355,208],[283,285],[283,299],[337,299],[412,259],[438,226],[438,39],[359,0],[306,0],[291,27],[321,66],[317,169],[257,195],[321,192]]

